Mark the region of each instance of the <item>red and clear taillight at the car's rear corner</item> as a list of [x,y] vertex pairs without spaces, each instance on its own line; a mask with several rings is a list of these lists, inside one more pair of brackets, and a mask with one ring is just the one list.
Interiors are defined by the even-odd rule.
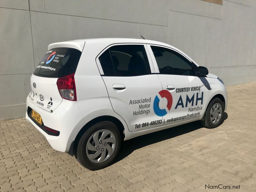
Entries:
[[60,77],[57,80],[57,87],[63,99],[76,101],[75,73]]

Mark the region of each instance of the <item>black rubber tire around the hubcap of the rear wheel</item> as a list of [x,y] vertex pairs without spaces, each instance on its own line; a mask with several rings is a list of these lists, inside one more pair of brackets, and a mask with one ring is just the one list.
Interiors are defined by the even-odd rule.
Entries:
[[[115,147],[112,155],[106,161],[104,161],[102,163],[94,163],[88,158],[88,156],[86,154],[86,145],[87,145],[87,142],[90,139],[90,137],[95,132],[102,130],[102,129],[109,130],[115,135],[116,147]],[[77,158],[77,161],[81,165],[86,167],[87,169],[92,170],[92,171],[99,170],[99,169],[103,169],[103,168],[107,167],[115,160],[115,158],[119,152],[120,146],[121,146],[121,136],[120,136],[120,132],[119,132],[118,128],[116,127],[116,125],[109,121],[102,121],[102,122],[92,125],[86,132],[84,132],[84,134],[82,135],[82,137],[80,138],[80,140],[78,142],[75,156]]]

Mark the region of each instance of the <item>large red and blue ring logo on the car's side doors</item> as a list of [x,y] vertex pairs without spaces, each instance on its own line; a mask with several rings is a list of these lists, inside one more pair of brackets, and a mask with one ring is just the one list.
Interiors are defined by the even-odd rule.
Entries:
[[[172,107],[172,94],[167,91],[167,90],[162,90],[159,92],[159,95],[162,97],[162,98],[166,98],[167,99],[167,109],[170,111],[171,107]],[[165,116],[167,114],[167,111],[165,109],[160,109],[159,108],[159,101],[160,99],[158,98],[158,96],[156,95],[155,97],[155,100],[154,100],[154,105],[153,105],[153,108],[154,108],[154,112],[157,116]]]

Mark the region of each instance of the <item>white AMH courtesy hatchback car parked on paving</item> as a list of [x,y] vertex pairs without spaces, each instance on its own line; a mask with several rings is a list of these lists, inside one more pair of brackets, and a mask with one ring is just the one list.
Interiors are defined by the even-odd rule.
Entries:
[[102,38],[48,50],[31,76],[26,119],[90,170],[111,164],[121,140],[197,120],[214,128],[227,108],[223,81],[169,44]]

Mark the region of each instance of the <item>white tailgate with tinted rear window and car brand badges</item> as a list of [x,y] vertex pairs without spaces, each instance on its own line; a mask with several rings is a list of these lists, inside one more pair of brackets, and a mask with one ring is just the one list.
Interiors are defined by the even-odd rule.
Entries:
[[30,78],[30,100],[40,108],[54,111],[62,102],[57,80],[76,72],[81,53],[70,47],[56,47],[46,52]]

